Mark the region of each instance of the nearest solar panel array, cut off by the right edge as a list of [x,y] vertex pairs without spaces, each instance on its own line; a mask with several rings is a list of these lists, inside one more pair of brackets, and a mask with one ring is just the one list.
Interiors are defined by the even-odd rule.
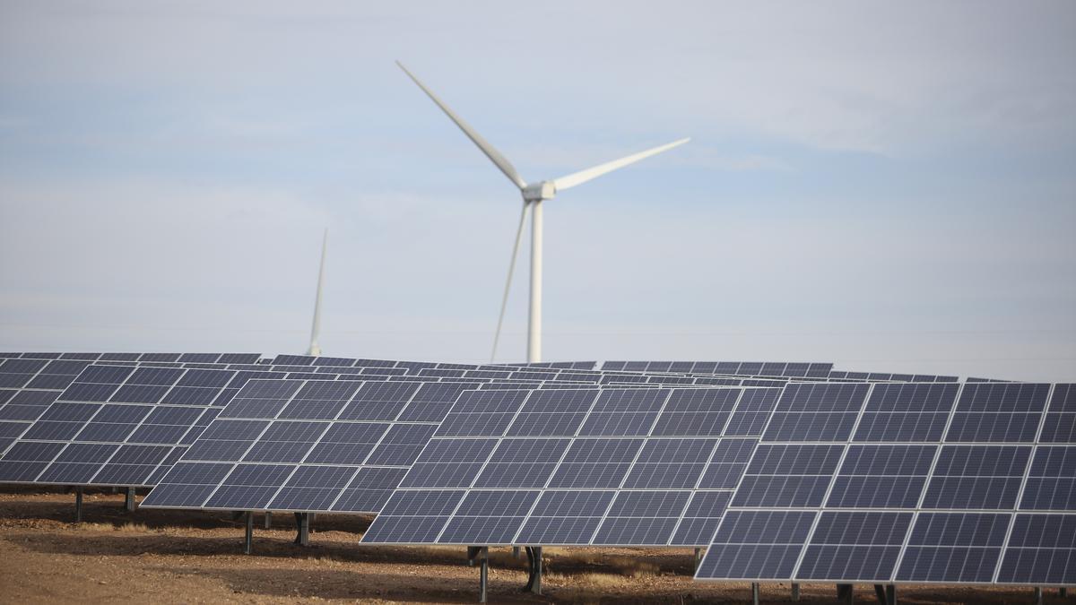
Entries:
[[789,384],[696,579],[1076,582],[1074,395]]

